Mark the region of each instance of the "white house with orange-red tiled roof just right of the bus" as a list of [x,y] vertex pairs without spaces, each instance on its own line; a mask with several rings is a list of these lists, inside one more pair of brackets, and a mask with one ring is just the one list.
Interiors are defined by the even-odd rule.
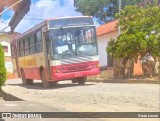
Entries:
[[118,20],[111,21],[97,28],[97,41],[99,51],[100,68],[112,67],[112,58],[107,54],[106,47],[111,39],[116,39],[119,35],[116,28]]

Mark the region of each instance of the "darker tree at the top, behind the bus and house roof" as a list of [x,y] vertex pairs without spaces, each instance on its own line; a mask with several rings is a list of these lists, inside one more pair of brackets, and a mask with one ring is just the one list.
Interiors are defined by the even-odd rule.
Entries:
[[[122,0],[121,8],[127,5],[136,5],[145,0]],[[151,0],[152,4],[157,0]],[[90,15],[97,18],[99,24],[107,23],[114,19],[119,12],[119,0],[74,0],[75,10],[83,15]]]

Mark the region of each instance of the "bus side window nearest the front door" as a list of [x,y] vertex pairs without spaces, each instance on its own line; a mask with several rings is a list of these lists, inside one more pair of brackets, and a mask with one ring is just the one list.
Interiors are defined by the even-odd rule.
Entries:
[[42,32],[36,32],[36,52],[42,52]]

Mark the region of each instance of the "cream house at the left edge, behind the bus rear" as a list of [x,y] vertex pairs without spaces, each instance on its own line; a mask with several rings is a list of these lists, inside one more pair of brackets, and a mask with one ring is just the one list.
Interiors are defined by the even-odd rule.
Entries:
[[11,47],[10,42],[15,37],[15,34],[18,33],[0,33],[0,44],[4,50],[5,55],[5,67],[7,70],[7,78],[13,78],[13,66],[11,60]]

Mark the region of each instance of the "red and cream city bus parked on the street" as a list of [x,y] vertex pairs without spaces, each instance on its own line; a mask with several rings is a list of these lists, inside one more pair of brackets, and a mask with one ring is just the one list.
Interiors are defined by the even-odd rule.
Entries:
[[47,19],[11,43],[12,62],[23,84],[62,80],[85,84],[99,74],[96,28],[90,16]]

